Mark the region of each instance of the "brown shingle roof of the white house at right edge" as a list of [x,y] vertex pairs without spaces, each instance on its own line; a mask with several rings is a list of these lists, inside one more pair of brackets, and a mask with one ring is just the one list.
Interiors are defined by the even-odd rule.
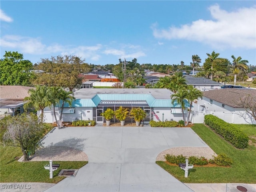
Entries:
[[239,108],[235,102],[239,102],[240,98],[244,98],[248,94],[250,94],[252,98],[256,98],[256,90],[254,89],[226,88],[203,92],[204,97],[234,108]]

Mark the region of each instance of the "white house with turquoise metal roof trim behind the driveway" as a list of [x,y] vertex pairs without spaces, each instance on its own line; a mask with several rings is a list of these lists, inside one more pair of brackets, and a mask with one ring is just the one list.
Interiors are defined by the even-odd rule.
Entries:
[[[95,120],[97,123],[105,122],[100,116],[107,108],[113,110],[120,106],[131,110],[134,107],[140,107],[146,112],[145,122],[156,120],[154,112],[162,121],[166,120],[182,120],[181,106],[172,104],[170,99],[173,94],[168,89],[109,89],[109,88],[93,88],[88,92],[86,89],[80,89],[74,92],[76,100],[69,106],[64,104],[63,119],[64,122],[72,122],[76,119]],[[186,101],[186,106],[189,107]],[[56,110],[60,108],[56,107]],[[59,112],[60,113],[60,112]],[[186,113],[186,112],[185,112]],[[38,111],[40,115],[40,111]],[[46,122],[54,122],[51,111],[44,111]],[[132,118],[127,117],[126,122],[134,122]],[[113,118],[111,122],[118,122]]]

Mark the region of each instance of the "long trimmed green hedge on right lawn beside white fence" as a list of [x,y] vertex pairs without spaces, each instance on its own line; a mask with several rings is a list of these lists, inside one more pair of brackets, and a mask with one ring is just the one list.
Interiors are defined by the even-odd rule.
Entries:
[[220,134],[236,148],[243,149],[248,146],[248,136],[232,124],[229,124],[214,115],[205,115],[204,123],[210,126],[210,128],[215,130],[216,133]]

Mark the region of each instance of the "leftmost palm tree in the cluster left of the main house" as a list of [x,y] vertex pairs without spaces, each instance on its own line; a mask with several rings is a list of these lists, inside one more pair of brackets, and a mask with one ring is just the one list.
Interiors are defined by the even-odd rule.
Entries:
[[50,101],[51,90],[45,85],[37,85],[36,89],[29,89],[28,94],[30,94],[30,96],[24,98],[24,101],[28,101],[24,104],[25,110],[41,110],[41,123],[43,123],[44,108],[52,104]]

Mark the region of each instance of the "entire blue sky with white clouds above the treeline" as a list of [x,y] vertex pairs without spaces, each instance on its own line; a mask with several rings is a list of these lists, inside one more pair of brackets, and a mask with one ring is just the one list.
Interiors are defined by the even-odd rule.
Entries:
[[256,65],[255,1],[0,1],[1,58],[180,64],[215,51]]

